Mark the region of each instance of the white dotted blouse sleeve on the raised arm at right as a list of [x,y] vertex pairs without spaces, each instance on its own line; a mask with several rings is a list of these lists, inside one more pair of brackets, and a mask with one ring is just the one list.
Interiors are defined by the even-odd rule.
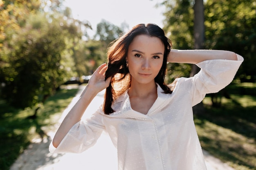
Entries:
[[206,60],[196,64],[200,72],[187,81],[192,81],[192,105],[202,101],[207,93],[217,93],[232,82],[243,57],[238,60]]

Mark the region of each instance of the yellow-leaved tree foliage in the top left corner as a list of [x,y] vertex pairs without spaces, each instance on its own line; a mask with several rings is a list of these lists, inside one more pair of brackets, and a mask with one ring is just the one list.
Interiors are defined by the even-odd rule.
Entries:
[[8,55],[11,52],[9,42],[25,25],[27,17],[39,9],[40,0],[0,0],[0,96],[2,95],[2,83],[5,81],[3,68],[12,69]]

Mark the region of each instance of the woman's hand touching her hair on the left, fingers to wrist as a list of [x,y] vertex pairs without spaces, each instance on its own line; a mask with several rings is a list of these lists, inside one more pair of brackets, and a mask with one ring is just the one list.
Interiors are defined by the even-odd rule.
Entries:
[[92,77],[90,78],[87,85],[90,90],[99,93],[100,91],[104,90],[109,86],[111,77],[109,77],[105,81],[105,72],[107,68],[108,66],[106,63],[101,64],[101,66],[99,66],[97,70],[92,74]]

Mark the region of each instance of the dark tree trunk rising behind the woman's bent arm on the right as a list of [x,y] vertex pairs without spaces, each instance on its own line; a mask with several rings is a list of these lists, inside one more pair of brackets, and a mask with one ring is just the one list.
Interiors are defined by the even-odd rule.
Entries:
[[[194,4],[194,48],[204,49],[204,1],[195,0]],[[192,65],[190,77],[194,76],[200,71],[200,68],[195,64]],[[195,115],[204,112],[204,105],[202,102],[193,107]]]

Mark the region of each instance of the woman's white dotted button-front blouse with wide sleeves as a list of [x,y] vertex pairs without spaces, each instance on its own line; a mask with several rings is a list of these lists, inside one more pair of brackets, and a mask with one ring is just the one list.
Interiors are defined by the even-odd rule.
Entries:
[[84,122],[77,122],[50,152],[80,153],[93,146],[105,130],[117,148],[119,170],[206,170],[193,121],[192,106],[207,93],[227,86],[243,57],[198,63],[194,77],[178,78],[172,94],[157,87],[157,99],[147,115],[132,110],[128,93],[121,95],[105,115],[102,106]]

